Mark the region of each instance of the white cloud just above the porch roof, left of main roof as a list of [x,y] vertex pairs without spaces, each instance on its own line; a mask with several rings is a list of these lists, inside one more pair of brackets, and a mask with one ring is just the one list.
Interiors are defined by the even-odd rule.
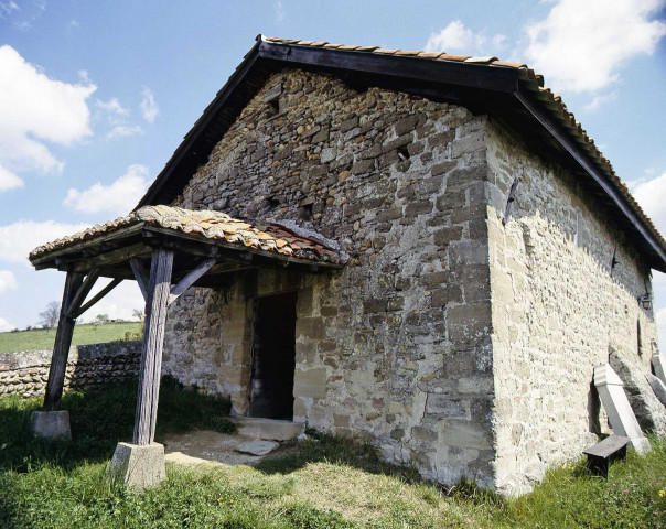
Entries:
[[130,165],[110,185],[97,182],[85,191],[69,190],[63,205],[80,213],[127,214],[148,188],[148,175],[144,165]]

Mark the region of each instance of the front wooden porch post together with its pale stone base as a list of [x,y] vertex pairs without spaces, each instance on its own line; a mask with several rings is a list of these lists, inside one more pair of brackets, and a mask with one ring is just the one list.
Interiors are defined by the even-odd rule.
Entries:
[[153,250],[146,289],[148,295],[133,443],[118,443],[109,466],[109,474],[114,478],[139,489],[158,485],[166,477],[164,446],[153,441],[172,267],[173,251],[163,248]]

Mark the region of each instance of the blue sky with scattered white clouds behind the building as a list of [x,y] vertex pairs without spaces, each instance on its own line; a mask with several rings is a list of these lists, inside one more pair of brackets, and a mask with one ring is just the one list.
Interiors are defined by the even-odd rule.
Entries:
[[61,299],[28,252],[129,212],[258,33],[526,62],[666,233],[666,0],[0,0],[0,331]]

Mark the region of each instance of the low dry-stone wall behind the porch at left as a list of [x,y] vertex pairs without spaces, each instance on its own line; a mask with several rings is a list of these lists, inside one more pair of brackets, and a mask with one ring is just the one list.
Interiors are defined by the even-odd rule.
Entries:
[[[42,395],[49,379],[52,349],[0,354],[0,395]],[[69,349],[65,390],[99,388],[137,379],[141,342],[79,345]]]

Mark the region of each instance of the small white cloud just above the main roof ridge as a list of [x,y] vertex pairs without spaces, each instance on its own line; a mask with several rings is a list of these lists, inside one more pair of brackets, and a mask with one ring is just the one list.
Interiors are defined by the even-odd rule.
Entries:
[[502,34],[488,37],[483,32],[474,33],[460,20],[454,20],[439,33],[432,33],[425,48],[428,52],[496,55],[504,47],[505,40]]

